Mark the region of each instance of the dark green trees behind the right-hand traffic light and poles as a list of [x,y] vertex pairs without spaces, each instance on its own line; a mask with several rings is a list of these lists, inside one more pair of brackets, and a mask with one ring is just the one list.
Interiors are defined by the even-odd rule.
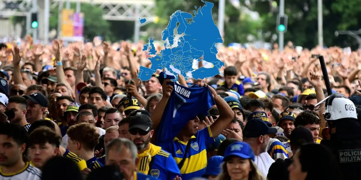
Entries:
[[[279,5],[279,0],[276,0]],[[358,5],[361,0],[323,0],[323,40],[326,46],[351,46],[357,48],[355,39],[348,35],[335,36],[337,30],[357,31],[360,29],[361,9]],[[294,45],[313,48],[318,44],[317,0],[285,1],[285,14],[288,15],[288,28],[284,34],[285,42],[292,41]],[[276,33],[275,12],[270,12],[269,1],[251,1],[251,10],[260,14],[263,20],[262,32]],[[265,38],[271,42],[271,36]]]

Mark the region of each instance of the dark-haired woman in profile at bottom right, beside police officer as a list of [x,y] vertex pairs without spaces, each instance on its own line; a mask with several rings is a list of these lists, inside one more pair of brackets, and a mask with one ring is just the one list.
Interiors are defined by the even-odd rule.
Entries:
[[[288,167],[290,180],[341,180],[340,170],[330,149],[321,144],[306,144],[293,156]],[[322,173],[326,172],[326,173]]]

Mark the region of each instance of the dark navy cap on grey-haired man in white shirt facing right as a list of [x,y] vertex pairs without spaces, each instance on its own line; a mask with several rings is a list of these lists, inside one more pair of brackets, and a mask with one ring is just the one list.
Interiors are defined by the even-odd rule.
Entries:
[[274,127],[268,127],[268,125],[262,119],[252,119],[248,121],[243,129],[243,137],[257,138],[266,134],[276,134],[277,129]]

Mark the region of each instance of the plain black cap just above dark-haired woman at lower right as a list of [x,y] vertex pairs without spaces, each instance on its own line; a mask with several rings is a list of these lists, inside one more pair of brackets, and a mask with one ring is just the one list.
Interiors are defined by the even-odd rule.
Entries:
[[293,129],[290,136],[290,144],[300,146],[305,143],[313,143],[311,131],[301,126]]

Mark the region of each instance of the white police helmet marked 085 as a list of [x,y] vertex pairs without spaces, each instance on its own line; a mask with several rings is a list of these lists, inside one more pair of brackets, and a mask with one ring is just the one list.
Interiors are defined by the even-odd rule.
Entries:
[[357,119],[356,107],[351,100],[340,93],[331,94],[326,99],[326,109],[323,116],[328,121],[343,118]]

